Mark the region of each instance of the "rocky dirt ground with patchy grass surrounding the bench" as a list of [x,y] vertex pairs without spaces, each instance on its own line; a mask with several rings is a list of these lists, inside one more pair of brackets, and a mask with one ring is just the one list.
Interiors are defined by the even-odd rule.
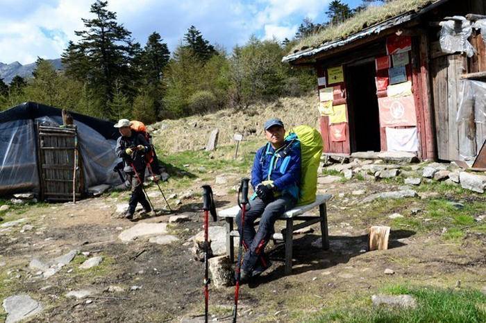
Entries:
[[[118,216],[128,201],[124,191],[76,204],[1,202],[0,320],[199,322],[203,263],[194,260],[192,237],[203,228],[201,184],[212,185],[219,209],[233,206],[260,144],[244,143],[236,161],[228,157],[233,146],[162,157],[171,173],[162,189],[176,211],[169,213],[150,186],[160,212],[135,222]],[[270,243],[273,265],[242,286],[240,322],[319,322],[329,311],[372,302],[416,306],[410,295],[380,295],[389,286],[486,293],[480,174],[451,164],[334,162],[319,176],[319,192],[333,195],[330,250],[320,248],[319,225],[296,234],[294,270],[285,276],[283,247]],[[210,225],[214,254],[224,254],[224,222]],[[388,250],[367,250],[371,225],[392,228]],[[233,287],[210,288],[211,320],[230,320]]]

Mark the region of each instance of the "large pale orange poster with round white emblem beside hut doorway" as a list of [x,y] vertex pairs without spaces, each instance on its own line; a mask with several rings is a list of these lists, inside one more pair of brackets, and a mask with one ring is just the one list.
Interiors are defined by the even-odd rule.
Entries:
[[413,96],[378,98],[381,127],[417,125]]

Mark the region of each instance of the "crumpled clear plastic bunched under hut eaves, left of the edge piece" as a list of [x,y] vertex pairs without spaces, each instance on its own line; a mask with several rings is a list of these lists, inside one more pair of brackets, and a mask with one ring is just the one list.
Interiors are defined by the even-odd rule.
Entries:
[[444,53],[466,53],[472,57],[475,53],[474,47],[467,40],[472,33],[471,21],[462,16],[454,16],[455,20],[442,21],[440,24],[439,43]]

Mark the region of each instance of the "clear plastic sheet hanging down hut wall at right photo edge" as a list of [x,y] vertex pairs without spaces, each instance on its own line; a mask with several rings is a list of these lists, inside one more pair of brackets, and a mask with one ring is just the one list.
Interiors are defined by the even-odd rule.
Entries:
[[459,155],[463,160],[475,158],[486,139],[486,83],[462,80],[458,115]]

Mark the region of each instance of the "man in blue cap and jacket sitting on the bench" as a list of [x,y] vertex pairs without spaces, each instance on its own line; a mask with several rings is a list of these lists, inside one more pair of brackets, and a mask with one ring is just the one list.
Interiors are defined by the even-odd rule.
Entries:
[[[255,155],[251,185],[255,193],[242,224],[241,211],[236,217],[246,250],[242,264],[242,281],[269,268],[265,245],[274,233],[274,223],[285,211],[292,209],[299,198],[301,180],[301,146],[297,140],[285,140],[285,128],[280,119],[265,122],[268,143]],[[258,232],[253,223],[261,216]]]

